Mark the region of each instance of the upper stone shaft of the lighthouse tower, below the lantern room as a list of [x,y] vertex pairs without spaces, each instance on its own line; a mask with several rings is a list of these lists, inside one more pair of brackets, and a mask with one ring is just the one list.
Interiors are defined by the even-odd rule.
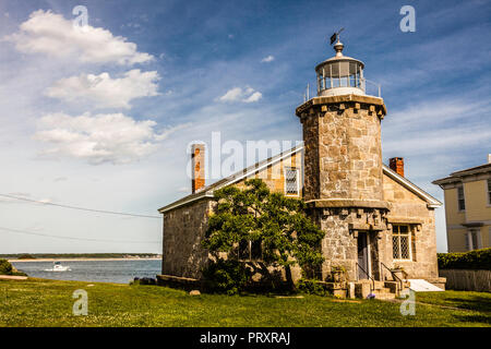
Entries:
[[344,97],[349,101],[314,98],[319,105],[297,110],[306,146],[306,201],[382,200],[382,115],[376,108],[383,103]]

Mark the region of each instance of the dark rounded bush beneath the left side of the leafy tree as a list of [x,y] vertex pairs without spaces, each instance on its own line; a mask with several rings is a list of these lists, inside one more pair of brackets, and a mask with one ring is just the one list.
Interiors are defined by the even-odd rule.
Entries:
[[218,260],[204,269],[206,291],[237,294],[246,289],[251,279],[251,270],[238,261]]

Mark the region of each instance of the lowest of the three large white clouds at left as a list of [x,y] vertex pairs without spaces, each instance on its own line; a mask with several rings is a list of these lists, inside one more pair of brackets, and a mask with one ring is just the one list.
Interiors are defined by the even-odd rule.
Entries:
[[189,124],[160,133],[155,132],[155,121],[135,121],[122,113],[51,113],[40,119],[35,139],[52,144],[43,155],[84,159],[92,165],[129,164],[152,154],[158,142]]

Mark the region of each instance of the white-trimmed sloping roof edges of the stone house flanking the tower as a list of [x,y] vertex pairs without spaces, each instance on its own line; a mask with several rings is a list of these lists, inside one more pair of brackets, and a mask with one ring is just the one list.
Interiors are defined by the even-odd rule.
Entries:
[[[226,177],[213,184],[209,184],[203,189],[201,189],[199,192],[190,194],[188,196],[184,196],[167,206],[164,206],[158,209],[159,213],[164,214],[166,212],[172,210],[175,208],[178,208],[180,206],[188,205],[194,201],[202,200],[204,197],[212,198],[213,192],[215,190],[221,189],[224,186],[240,182],[242,179],[248,178],[250,176],[253,176],[254,173],[259,172],[260,170],[267,168],[268,166],[272,166],[285,158],[288,158],[289,156],[301,153],[303,151],[303,145],[296,146],[287,152],[280,153],[276,156],[273,156],[271,158],[267,158],[265,160],[262,160],[260,163],[256,163],[252,166],[249,166],[248,168],[244,168],[241,171],[238,171],[229,177]],[[424,192],[422,189],[417,186],[416,184],[411,183],[408,179],[405,177],[402,177],[397,174],[395,171],[393,171],[387,166],[383,165],[383,173],[391,177],[394,181],[399,183],[400,185],[405,186],[407,190],[411,191],[422,200],[424,200],[428,203],[428,207],[435,208],[442,206],[442,203]]]

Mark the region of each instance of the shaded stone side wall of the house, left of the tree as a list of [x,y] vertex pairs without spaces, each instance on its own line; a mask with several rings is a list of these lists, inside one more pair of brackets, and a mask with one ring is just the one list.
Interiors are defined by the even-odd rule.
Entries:
[[202,198],[164,214],[164,275],[201,278],[208,252],[201,246],[212,202]]

